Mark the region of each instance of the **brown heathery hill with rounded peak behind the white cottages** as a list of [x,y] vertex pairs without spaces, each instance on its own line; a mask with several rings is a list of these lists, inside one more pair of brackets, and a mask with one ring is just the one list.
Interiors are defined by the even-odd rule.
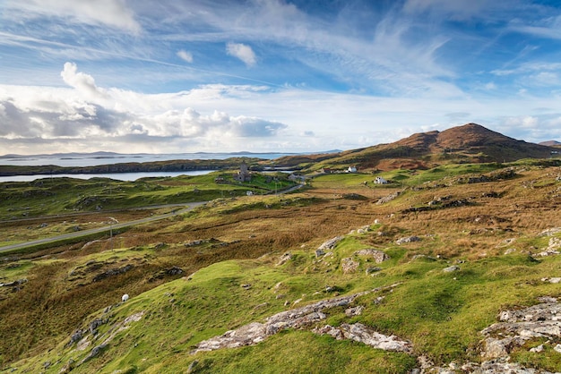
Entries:
[[322,167],[359,170],[424,169],[458,162],[511,162],[522,158],[548,158],[557,148],[515,140],[477,123],[467,123],[443,132],[420,132],[389,144],[353,149],[332,155],[282,157],[283,166],[306,164],[310,170]]

